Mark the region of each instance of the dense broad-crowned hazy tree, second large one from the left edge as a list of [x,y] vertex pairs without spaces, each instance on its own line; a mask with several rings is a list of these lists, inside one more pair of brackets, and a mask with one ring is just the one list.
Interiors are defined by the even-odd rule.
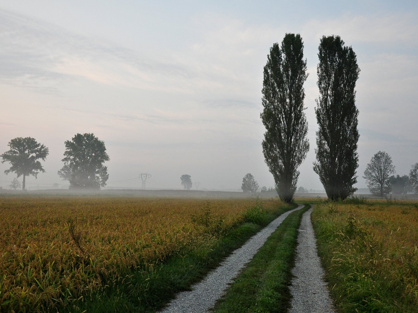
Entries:
[[70,182],[70,189],[100,189],[106,185],[109,174],[104,162],[109,161],[104,141],[94,134],[76,134],[65,141],[64,166],[59,177]]

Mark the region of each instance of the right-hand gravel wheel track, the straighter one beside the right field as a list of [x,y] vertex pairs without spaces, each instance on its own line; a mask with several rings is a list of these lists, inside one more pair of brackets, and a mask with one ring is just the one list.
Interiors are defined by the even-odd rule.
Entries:
[[316,250],[316,238],[311,222],[312,207],[302,216],[299,227],[295,276],[290,287],[293,296],[290,312],[334,312],[329,291],[323,279],[324,270]]

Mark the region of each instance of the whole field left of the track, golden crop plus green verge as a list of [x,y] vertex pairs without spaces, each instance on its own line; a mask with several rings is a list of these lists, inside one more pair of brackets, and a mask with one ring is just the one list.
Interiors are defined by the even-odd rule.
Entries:
[[[187,288],[266,213],[289,208],[254,198],[1,197],[0,310],[101,311],[99,301],[152,311],[155,290],[164,300]],[[171,280],[179,285],[162,285]]]

